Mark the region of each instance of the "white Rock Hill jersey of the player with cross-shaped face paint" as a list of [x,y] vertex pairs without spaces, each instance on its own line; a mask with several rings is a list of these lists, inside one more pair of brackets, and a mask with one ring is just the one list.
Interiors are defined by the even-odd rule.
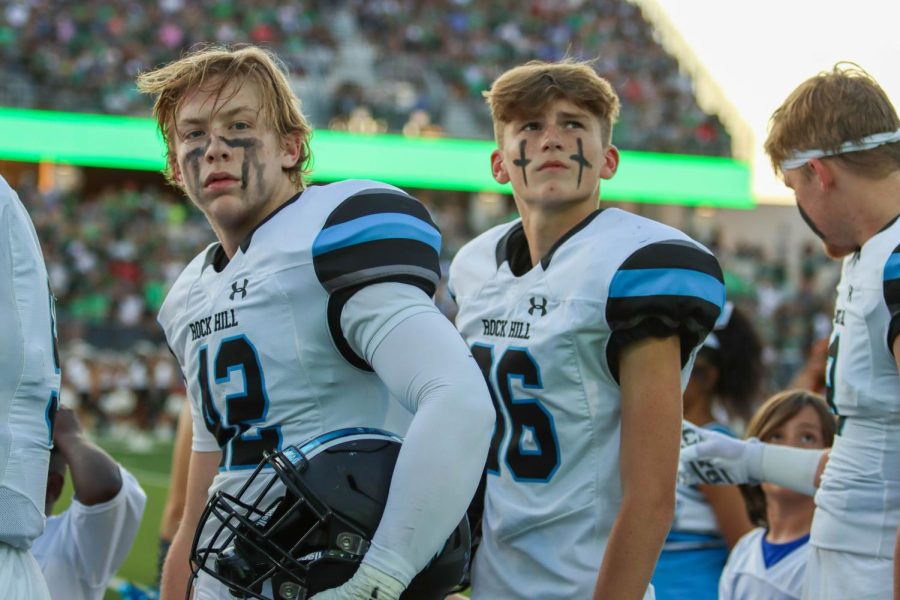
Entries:
[[718,263],[610,208],[533,268],[520,220],[485,232],[450,289],[497,409],[472,597],[589,598],[622,494],[619,350],[677,333],[686,385],[725,301]]

